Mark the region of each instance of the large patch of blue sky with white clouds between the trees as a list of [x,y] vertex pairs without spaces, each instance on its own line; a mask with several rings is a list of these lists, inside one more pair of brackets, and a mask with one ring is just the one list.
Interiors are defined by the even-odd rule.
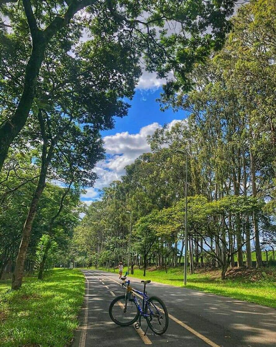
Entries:
[[102,132],[106,159],[98,162],[94,169],[99,177],[94,187],[87,187],[86,194],[81,195],[81,200],[87,205],[100,198],[100,190],[104,186],[124,175],[126,165],[150,151],[147,135],[153,134],[155,129],[164,124],[171,126],[177,120],[186,118],[184,111],[160,111],[156,99],[162,92],[162,83],[154,74],[145,72],[139,80],[133,99],[128,100],[131,105],[128,116],[115,117],[115,127]]

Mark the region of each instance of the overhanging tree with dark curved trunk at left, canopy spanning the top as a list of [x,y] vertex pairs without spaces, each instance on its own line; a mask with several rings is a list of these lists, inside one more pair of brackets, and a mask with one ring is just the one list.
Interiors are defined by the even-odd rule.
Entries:
[[[233,14],[233,7],[232,0],[223,4],[200,1],[196,5],[182,1],[173,4],[169,1],[23,0],[17,4],[12,0],[2,1],[0,13],[9,18],[8,25],[12,29],[16,31],[19,28],[25,33],[30,45],[22,90],[16,96],[18,102],[14,112],[5,117],[0,126],[0,169],[10,144],[29,116],[46,51],[58,37],[67,42],[66,52],[80,40],[84,28],[91,36],[97,33],[104,37],[109,33],[119,42],[127,38],[127,44],[131,44],[139,54],[145,54],[149,70],[157,70],[163,77],[173,69],[178,80],[187,81],[186,72],[192,69],[193,64],[207,57],[213,47],[221,46],[225,32],[230,27],[226,18]],[[86,16],[82,15],[83,11],[86,11]],[[148,17],[142,20],[140,17],[144,13]],[[160,39],[157,39],[154,26],[163,28],[165,22],[174,22],[181,29],[169,36],[167,30],[161,29]],[[208,27],[212,27],[212,34],[206,34]],[[5,30],[2,21],[2,31]],[[192,39],[186,33],[190,33]],[[175,89],[179,83],[173,83],[173,86]],[[167,91],[171,89],[172,83],[169,83]]]

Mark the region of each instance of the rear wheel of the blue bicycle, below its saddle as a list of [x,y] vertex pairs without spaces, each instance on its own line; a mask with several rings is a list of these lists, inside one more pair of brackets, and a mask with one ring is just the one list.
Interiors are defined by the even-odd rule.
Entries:
[[149,329],[155,334],[162,335],[169,325],[169,315],[163,301],[156,296],[149,298],[146,304],[146,317]]

